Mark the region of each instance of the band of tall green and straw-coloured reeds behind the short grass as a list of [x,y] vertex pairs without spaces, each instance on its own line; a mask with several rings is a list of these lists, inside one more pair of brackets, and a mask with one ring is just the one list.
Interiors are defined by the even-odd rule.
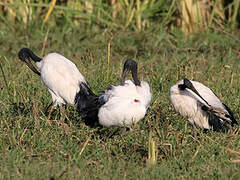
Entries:
[[98,24],[111,30],[144,31],[154,23],[163,28],[181,27],[184,32],[208,30],[226,25],[238,27],[239,0],[225,3],[217,1],[156,1],[156,0],[111,0],[111,1],[23,1],[4,0],[0,3],[3,11],[0,19],[23,23],[25,27],[34,21],[42,25],[57,23],[79,27]]

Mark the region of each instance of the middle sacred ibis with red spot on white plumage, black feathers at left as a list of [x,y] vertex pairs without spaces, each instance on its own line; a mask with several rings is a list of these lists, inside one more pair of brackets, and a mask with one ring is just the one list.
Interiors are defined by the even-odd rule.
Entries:
[[[132,80],[125,80],[128,72]],[[141,120],[150,104],[152,94],[147,82],[137,77],[137,63],[126,60],[118,86],[111,86],[103,94],[95,95],[85,83],[80,84],[77,94],[78,110],[86,124],[98,122],[102,126],[129,126]],[[76,100],[77,100],[76,98]]]

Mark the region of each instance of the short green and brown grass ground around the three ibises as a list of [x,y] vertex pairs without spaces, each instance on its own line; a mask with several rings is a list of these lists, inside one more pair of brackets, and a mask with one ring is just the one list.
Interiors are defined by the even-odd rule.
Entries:
[[[239,127],[226,134],[199,130],[194,140],[191,125],[169,101],[169,88],[187,77],[210,87],[239,119],[240,48],[235,39],[220,32],[189,37],[157,25],[141,33],[123,31],[111,43],[107,76],[109,36],[104,29],[52,27],[44,54],[59,52],[71,59],[95,92],[119,84],[126,58],[138,61],[152,103],[134,130],[121,134],[116,127],[87,127],[71,106],[66,108],[70,121],[59,111],[50,118],[44,113],[50,94],[17,52],[26,46],[40,55],[45,35],[37,25],[25,30],[5,26],[0,32],[6,79],[1,72],[0,179],[240,178],[240,164],[232,162],[240,159]],[[147,164],[150,131],[157,149],[152,166]]]

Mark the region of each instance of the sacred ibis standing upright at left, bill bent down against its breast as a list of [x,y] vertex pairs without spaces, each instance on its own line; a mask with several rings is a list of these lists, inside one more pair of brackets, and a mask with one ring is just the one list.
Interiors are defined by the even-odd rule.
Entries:
[[[49,53],[43,58],[36,56],[30,49],[22,48],[18,57],[36,74],[41,76],[42,83],[52,95],[54,107],[62,104],[75,105],[76,94],[80,85],[89,87],[76,65],[58,53]],[[30,58],[36,63],[40,72],[33,66]],[[78,100],[80,100],[78,98]]]

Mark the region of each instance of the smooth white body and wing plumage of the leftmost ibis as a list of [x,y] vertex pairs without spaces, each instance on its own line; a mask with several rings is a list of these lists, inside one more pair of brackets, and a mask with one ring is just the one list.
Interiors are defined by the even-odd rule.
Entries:
[[42,61],[42,82],[65,102],[74,104],[79,84],[86,82],[76,65],[57,53],[48,54]]

